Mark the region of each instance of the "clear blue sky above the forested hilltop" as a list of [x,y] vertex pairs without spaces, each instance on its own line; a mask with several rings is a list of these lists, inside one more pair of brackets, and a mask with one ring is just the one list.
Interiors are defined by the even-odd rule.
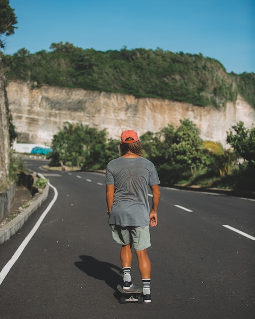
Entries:
[[199,54],[228,72],[255,72],[254,0],[10,0],[18,29],[5,54],[69,42],[96,50],[143,47]]

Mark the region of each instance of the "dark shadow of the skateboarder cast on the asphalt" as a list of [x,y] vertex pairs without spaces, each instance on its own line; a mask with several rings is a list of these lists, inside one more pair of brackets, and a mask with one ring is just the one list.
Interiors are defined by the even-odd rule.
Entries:
[[79,256],[81,261],[76,261],[75,266],[88,276],[104,280],[105,283],[116,290],[117,285],[123,281],[122,276],[117,274],[113,269],[122,274],[122,269],[115,264],[100,261],[92,256]]

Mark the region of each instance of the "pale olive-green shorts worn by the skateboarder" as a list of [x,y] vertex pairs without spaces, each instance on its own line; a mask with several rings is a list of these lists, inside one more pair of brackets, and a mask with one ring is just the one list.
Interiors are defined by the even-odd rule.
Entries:
[[112,238],[117,244],[122,246],[134,245],[135,250],[144,250],[151,246],[149,226],[122,227],[119,225],[110,225]]

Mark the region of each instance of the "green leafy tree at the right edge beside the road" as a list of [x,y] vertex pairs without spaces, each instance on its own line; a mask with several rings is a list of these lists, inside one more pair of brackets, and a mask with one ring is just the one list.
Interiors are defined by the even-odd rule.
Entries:
[[249,165],[255,164],[255,127],[247,129],[242,121],[232,126],[233,131],[227,132],[226,142],[229,143],[238,157]]

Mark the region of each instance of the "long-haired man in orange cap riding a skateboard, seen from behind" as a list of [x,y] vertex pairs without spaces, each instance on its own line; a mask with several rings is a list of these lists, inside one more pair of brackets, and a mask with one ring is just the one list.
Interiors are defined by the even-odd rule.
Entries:
[[[106,202],[109,225],[114,241],[122,245],[120,258],[123,269],[123,289],[132,287],[132,245],[138,259],[146,303],[151,302],[151,262],[147,248],[151,246],[149,225],[158,223],[160,199],[159,178],[152,162],[142,157],[141,144],[133,130],[121,135],[121,156],[106,168]],[[148,201],[148,186],[152,191],[152,208]]]

